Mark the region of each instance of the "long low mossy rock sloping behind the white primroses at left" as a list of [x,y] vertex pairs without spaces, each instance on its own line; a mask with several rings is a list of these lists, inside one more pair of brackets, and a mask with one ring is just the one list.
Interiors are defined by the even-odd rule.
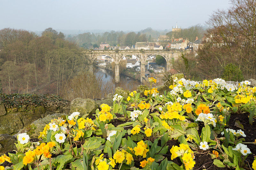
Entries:
[[44,130],[46,124],[49,124],[52,119],[58,119],[59,117],[66,119],[66,114],[55,113],[52,115],[47,115],[44,118],[37,119],[30,125],[21,129],[15,136],[17,136],[20,133],[27,133],[30,138],[37,138],[40,135],[40,132]]

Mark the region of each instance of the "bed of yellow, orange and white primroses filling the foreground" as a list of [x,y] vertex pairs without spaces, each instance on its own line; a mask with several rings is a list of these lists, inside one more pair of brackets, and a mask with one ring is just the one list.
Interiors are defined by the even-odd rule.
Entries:
[[[17,151],[0,157],[6,169],[256,169],[255,92],[222,79],[173,77],[170,92],[113,96],[91,117],[54,119]],[[9,164],[7,164],[9,162]],[[12,163],[12,164],[10,164]],[[4,168],[0,167],[1,170]]]

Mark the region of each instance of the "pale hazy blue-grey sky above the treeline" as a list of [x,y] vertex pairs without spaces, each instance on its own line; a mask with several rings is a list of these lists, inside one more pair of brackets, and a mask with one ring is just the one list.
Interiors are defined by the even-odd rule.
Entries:
[[0,0],[0,29],[141,30],[204,25],[228,0]]

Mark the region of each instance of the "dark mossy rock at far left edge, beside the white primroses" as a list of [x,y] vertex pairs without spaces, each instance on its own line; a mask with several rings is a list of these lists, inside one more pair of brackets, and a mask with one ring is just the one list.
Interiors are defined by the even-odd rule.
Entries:
[[16,149],[15,143],[17,143],[17,138],[8,134],[1,134],[0,135],[0,145],[1,145],[0,155],[3,155],[6,152],[10,152]]

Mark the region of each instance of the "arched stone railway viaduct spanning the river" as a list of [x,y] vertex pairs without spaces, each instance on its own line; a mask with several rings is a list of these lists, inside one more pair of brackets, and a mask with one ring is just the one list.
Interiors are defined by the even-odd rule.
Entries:
[[[188,50],[187,50],[188,51]],[[166,70],[172,69],[172,61],[175,61],[186,50],[86,50],[82,55],[88,60],[92,71],[94,60],[100,55],[108,55],[115,62],[115,82],[119,82],[119,62],[126,55],[136,55],[140,60],[140,80],[145,80],[145,65],[148,56],[161,55],[166,60]]]

